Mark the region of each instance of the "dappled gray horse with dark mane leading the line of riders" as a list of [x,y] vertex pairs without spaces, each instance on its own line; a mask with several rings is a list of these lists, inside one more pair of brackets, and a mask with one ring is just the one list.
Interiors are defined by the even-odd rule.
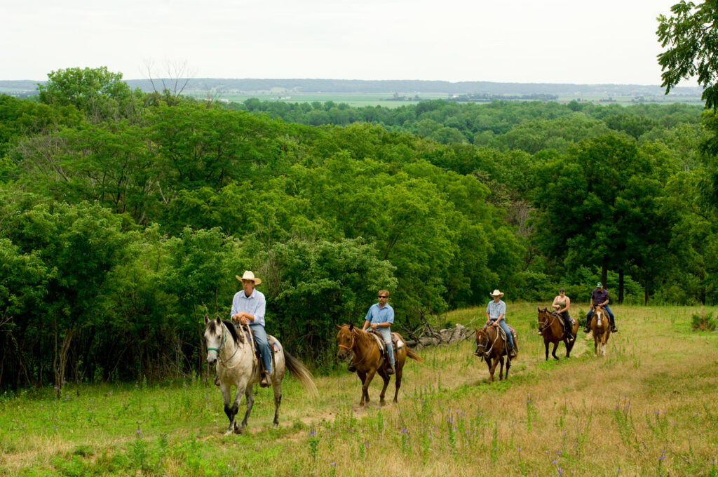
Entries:
[[[267,335],[269,348],[272,349],[271,358],[271,386],[274,391],[274,427],[279,424],[279,404],[281,404],[281,380],[284,379],[284,370],[299,379],[309,394],[314,397],[319,395],[317,386],[312,381],[312,374],[300,363],[297,358],[287,353],[284,346],[274,338]],[[216,363],[217,376],[220,382],[220,390],[224,400],[225,414],[229,418],[229,427],[225,435],[232,432],[241,434],[247,425],[249,412],[254,404],[252,385],[259,382],[261,374],[261,363],[254,355],[253,343],[250,343],[245,333],[239,333],[230,321],[223,321],[220,318],[210,320],[205,316],[205,341],[207,342],[207,362],[212,366]],[[279,351],[274,351],[276,343]],[[231,396],[231,387],[236,386],[237,394],[234,399]],[[247,398],[247,411],[244,414],[242,424],[236,422],[239,402],[242,394]]]

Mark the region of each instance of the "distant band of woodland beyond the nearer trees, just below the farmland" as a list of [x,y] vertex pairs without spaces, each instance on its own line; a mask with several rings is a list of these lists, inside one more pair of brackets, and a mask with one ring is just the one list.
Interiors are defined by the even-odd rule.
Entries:
[[474,144],[506,151],[542,149],[565,152],[581,139],[619,131],[638,142],[661,139],[679,124],[697,125],[700,106],[674,103],[670,106],[599,106],[571,101],[559,103],[493,101],[488,104],[458,104],[452,101],[423,101],[388,108],[352,108],[346,103],[288,103],[251,98],[225,107],[261,112],[272,118],[299,124],[346,126],[372,123],[390,131],[409,132],[442,144]]

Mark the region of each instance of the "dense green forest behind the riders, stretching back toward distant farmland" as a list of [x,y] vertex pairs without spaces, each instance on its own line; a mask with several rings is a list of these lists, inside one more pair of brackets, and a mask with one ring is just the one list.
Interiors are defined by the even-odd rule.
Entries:
[[497,287],[715,304],[717,131],[680,104],[222,105],[52,72],[0,96],[0,387],[197,372],[245,269],[316,369],[379,288],[409,333]]

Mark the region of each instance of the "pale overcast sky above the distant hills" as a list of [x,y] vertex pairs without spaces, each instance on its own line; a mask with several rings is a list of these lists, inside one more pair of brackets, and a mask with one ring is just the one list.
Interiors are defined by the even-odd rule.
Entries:
[[0,0],[0,80],[186,62],[195,78],[657,85],[656,17],[676,3]]

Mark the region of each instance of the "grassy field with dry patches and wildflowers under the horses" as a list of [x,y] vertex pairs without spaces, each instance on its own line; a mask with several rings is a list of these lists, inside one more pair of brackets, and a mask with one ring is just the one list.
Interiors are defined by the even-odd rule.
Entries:
[[694,313],[715,310],[612,308],[620,333],[605,358],[581,333],[572,358],[544,361],[536,305],[510,303],[520,353],[508,381],[487,384],[469,341],[424,348],[425,363],[406,364],[398,404],[378,406],[381,379],[359,409],[353,374],[317,377],[314,401],[288,377],[279,428],[271,392],[257,389],[245,435],[222,436],[218,388],[196,376],[68,385],[59,400],[52,389],[5,394],[0,474],[718,476],[718,333],[690,330]]

